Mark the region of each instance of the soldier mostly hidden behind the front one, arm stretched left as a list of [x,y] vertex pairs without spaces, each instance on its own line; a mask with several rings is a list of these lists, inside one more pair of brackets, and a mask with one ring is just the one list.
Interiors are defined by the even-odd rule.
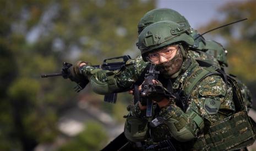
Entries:
[[[194,44],[191,46],[191,50],[188,51],[191,57],[197,59],[198,61],[204,61],[200,62],[201,64],[205,64],[205,62],[210,63],[211,65],[215,65],[217,67],[221,66],[220,68],[223,70],[224,67],[227,67],[226,50],[222,47],[222,45],[213,40],[205,40],[203,37],[200,37],[199,33],[190,27],[187,19],[175,10],[165,8],[150,10],[139,21],[138,34],[140,34],[140,32],[146,26],[163,20],[174,21],[180,25],[183,25],[188,29],[189,34],[194,39],[197,38]],[[133,84],[138,80],[146,65],[148,65],[148,63],[144,62],[141,56],[138,56],[136,59],[129,60],[127,62],[127,66],[121,69],[121,71],[100,71],[99,69],[88,66],[85,67],[81,72],[84,72],[84,75],[89,75],[89,77],[92,77],[92,81],[94,81],[92,83],[92,89],[94,89],[95,92],[105,94],[106,92],[127,90],[127,88],[132,89]],[[76,71],[79,74],[78,68]],[[114,80],[116,80],[116,82],[107,80],[107,77],[110,79],[115,78]],[[239,85],[241,85],[242,88],[244,101],[247,102],[248,108],[251,108],[252,100],[250,99],[251,97],[249,90],[241,82],[239,82]],[[102,91],[101,86],[104,91]]]

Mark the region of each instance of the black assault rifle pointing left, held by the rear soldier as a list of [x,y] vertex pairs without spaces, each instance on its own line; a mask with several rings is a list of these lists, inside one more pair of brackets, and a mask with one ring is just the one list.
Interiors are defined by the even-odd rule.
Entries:
[[[110,62],[110,60],[117,60],[117,59],[122,59],[122,61]],[[115,71],[115,70],[121,69],[124,65],[126,65],[126,62],[129,59],[131,59],[129,55],[113,57],[110,59],[105,59],[101,65],[95,65],[92,67],[100,68],[108,71]],[[56,77],[56,76],[62,76],[64,79],[70,78],[69,68],[71,66],[72,66],[71,63],[63,62],[63,68],[61,72],[52,73],[52,74],[42,74],[41,78]],[[85,86],[89,83],[89,80],[86,78],[83,80],[83,82],[76,81],[76,80],[74,81],[78,84],[74,88],[76,92],[83,90]],[[110,102],[110,103],[116,103],[116,99],[117,99],[117,93],[108,94],[108,95],[105,95],[104,97],[104,101]]]

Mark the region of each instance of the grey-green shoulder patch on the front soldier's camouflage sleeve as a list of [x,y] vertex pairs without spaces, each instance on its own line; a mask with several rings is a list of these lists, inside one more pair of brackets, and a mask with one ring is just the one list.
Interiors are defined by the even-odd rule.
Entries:
[[204,109],[209,115],[216,114],[220,109],[220,101],[213,98],[205,98]]

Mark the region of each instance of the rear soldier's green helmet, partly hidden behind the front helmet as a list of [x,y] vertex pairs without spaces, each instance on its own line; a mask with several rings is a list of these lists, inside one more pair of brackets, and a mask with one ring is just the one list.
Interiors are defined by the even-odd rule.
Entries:
[[179,25],[183,25],[189,31],[191,30],[190,25],[184,16],[179,14],[177,11],[169,8],[159,8],[148,11],[143,18],[140,19],[138,24],[138,33],[146,27],[158,21],[173,21]]

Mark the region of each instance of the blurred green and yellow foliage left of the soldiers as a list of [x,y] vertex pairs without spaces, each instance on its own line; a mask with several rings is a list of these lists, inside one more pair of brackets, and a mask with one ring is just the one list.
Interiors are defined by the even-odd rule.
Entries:
[[[134,50],[137,23],[154,5],[154,0],[0,1],[0,150],[54,143],[59,117],[83,95],[104,108],[102,96],[85,90],[78,95],[69,80],[41,79],[40,74],[59,72],[63,61],[99,64],[139,54]],[[122,102],[130,97],[119,98],[116,107],[106,105],[109,113],[124,114]],[[99,124],[87,126],[64,148],[99,150],[107,136]]]

